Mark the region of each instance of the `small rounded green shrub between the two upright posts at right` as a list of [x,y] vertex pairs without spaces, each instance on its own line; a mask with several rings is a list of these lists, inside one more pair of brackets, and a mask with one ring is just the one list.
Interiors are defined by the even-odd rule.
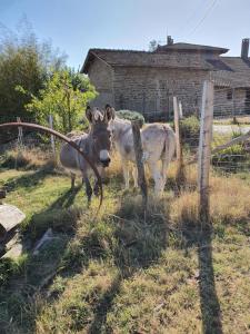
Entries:
[[200,121],[196,116],[190,116],[180,121],[180,135],[183,144],[198,146],[200,134]]

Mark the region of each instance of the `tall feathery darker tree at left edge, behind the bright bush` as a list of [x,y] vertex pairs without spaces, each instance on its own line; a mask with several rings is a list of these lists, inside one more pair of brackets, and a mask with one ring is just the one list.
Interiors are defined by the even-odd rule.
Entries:
[[[53,50],[51,42],[39,42],[26,20],[18,32],[1,27],[0,36],[0,116],[8,120],[23,118],[24,106],[38,95],[51,69],[64,65],[66,56]],[[17,86],[28,94],[23,95]]]

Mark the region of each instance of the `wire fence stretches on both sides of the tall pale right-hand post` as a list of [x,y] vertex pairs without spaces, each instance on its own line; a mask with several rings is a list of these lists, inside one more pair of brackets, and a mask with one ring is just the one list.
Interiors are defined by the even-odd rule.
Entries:
[[[233,82],[213,80],[213,122],[212,149],[220,147],[233,138],[250,132],[250,97],[247,88],[236,88]],[[226,86],[226,87],[224,87]],[[202,87],[196,91],[196,98],[188,95],[192,88],[186,86],[186,91],[178,91],[177,98],[181,106],[180,135],[184,158],[197,156],[200,141],[200,118],[202,109]],[[187,107],[187,100],[193,105]],[[194,102],[196,101],[196,102]],[[199,107],[198,107],[199,106]],[[197,107],[199,111],[197,111]],[[193,108],[192,117],[189,110]],[[196,116],[196,117],[193,117]],[[249,173],[250,171],[250,138],[233,144],[211,156],[211,166],[217,171]]]

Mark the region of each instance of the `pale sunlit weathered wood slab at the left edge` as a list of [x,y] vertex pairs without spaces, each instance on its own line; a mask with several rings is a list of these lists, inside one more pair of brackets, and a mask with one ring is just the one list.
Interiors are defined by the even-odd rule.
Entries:
[[12,205],[0,205],[0,240],[4,239],[8,232],[17,227],[26,215]]

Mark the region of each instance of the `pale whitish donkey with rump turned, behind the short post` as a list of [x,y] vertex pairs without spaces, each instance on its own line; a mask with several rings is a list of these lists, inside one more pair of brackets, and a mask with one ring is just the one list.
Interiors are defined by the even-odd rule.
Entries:
[[[114,115],[114,110],[113,110]],[[120,155],[126,188],[129,188],[129,163],[136,163],[132,126],[129,120],[116,117],[111,124],[112,140]],[[167,181],[167,170],[176,151],[176,135],[167,124],[149,124],[141,129],[143,163],[154,180],[154,193],[161,195]],[[134,187],[138,187],[137,168],[132,168]]]

